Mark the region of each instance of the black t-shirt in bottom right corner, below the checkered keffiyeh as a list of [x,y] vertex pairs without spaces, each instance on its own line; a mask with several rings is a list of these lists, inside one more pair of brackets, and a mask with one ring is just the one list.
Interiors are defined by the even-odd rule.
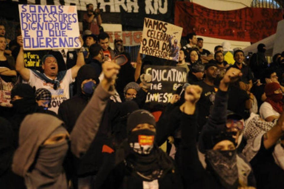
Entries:
[[262,138],[260,149],[250,162],[257,189],[284,188],[284,170],[275,163],[273,150],[274,146],[270,149],[264,148]]

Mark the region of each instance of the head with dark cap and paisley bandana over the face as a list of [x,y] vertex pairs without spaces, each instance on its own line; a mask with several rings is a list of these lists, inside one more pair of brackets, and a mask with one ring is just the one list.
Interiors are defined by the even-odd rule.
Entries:
[[233,133],[225,130],[212,131],[208,135],[208,141],[213,148],[205,154],[207,170],[224,188],[237,188],[238,169]]

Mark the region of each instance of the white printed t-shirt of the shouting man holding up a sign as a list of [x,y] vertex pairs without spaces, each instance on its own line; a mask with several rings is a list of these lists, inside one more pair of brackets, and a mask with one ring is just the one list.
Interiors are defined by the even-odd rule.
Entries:
[[[49,78],[48,76],[46,77]],[[71,84],[72,82],[75,82],[75,79],[72,79],[71,69],[68,69],[66,75],[61,80],[58,89],[54,90],[53,84],[46,83],[46,81],[39,78],[36,74],[33,73],[33,71],[30,70],[30,79],[28,81],[28,84],[30,84],[30,86],[32,87],[35,86],[35,89],[48,89],[51,92],[51,107],[49,107],[48,109],[57,113],[59,105],[70,97],[69,84]]]

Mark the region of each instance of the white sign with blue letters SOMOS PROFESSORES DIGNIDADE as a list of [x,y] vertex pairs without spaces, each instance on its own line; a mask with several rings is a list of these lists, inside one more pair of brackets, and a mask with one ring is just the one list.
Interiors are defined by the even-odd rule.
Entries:
[[19,5],[24,50],[80,48],[76,6]]

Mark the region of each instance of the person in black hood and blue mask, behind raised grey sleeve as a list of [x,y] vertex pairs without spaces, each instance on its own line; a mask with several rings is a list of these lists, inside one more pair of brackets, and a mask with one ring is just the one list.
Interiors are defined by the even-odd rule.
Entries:
[[71,132],[77,118],[88,104],[92,94],[99,84],[99,78],[91,65],[82,66],[77,75],[78,93],[69,100],[62,102],[58,110],[58,116],[66,124],[66,129]]

